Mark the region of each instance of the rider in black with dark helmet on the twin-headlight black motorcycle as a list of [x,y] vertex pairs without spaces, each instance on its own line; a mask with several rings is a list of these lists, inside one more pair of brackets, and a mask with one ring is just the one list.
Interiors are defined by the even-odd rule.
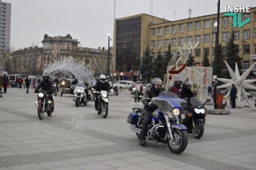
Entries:
[[187,98],[190,101],[190,98],[195,97],[195,93],[191,90],[192,83],[187,79],[182,82],[182,89],[179,90],[177,95],[179,98]]

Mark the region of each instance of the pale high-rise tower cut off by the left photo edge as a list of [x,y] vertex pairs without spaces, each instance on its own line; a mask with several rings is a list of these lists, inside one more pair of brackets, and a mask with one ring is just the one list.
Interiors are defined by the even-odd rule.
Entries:
[[11,43],[12,4],[0,0],[0,52]]

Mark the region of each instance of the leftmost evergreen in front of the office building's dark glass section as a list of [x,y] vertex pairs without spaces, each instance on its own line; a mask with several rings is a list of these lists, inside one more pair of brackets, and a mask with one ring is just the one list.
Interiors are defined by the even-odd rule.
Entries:
[[150,82],[154,70],[152,69],[153,56],[150,54],[149,44],[143,53],[143,57],[141,57],[140,72],[142,75],[142,80],[147,80],[147,82]]

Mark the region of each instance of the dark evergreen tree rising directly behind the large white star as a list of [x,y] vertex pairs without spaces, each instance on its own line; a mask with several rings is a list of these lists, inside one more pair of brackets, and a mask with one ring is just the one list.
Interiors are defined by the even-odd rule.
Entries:
[[[237,62],[237,67],[239,70],[239,73],[242,73],[242,57],[239,57],[239,45],[234,44],[234,31],[231,33],[231,37],[228,42],[226,42],[226,62],[229,63],[229,66],[234,71],[235,65]],[[225,65],[226,68],[226,65]]]

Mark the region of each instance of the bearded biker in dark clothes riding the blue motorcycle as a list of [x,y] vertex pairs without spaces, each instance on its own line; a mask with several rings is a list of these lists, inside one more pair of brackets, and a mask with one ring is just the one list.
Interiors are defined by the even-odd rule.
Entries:
[[157,105],[148,105],[149,98],[152,99],[154,97],[158,97],[159,93],[162,92],[162,80],[158,77],[155,77],[151,81],[152,87],[147,89],[144,96],[142,97],[142,103],[144,104],[144,110],[142,113],[142,126],[141,126],[141,135],[140,135],[140,145],[146,146],[146,130],[150,122],[150,115],[154,112],[158,107]]

